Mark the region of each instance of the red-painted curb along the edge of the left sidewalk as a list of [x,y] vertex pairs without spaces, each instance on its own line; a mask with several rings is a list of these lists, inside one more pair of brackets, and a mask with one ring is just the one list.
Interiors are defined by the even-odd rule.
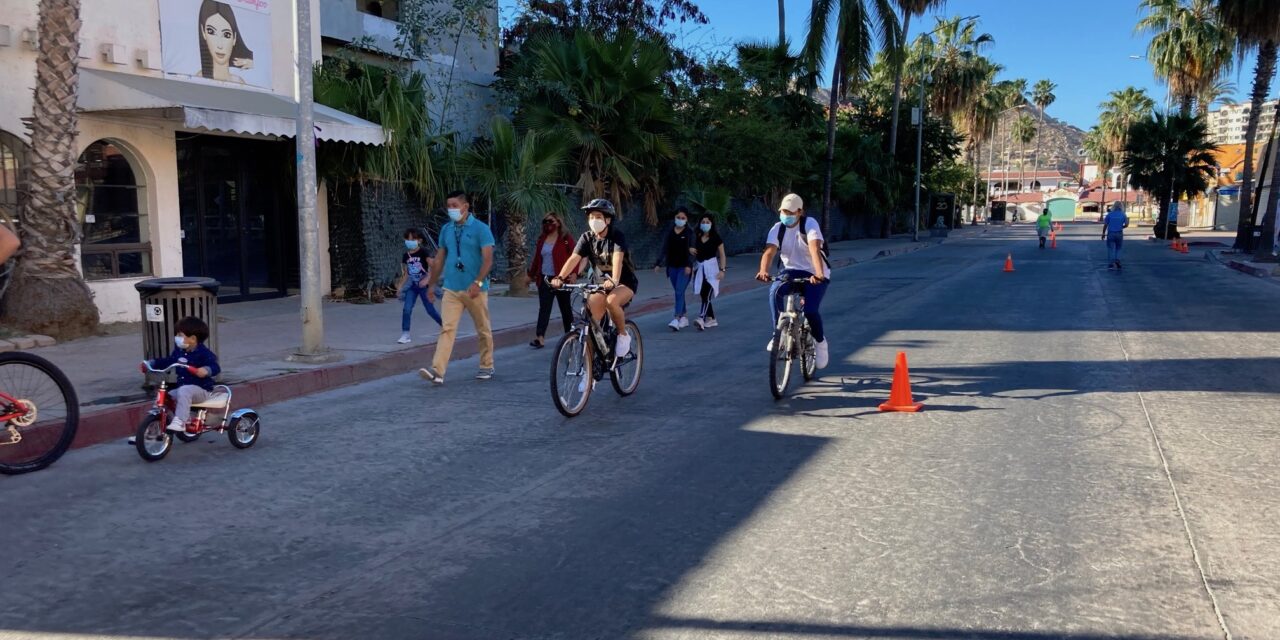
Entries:
[[[913,253],[938,242],[927,242],[916,247],[904,247],[901,250],[882,250],[872,260],[891,257],[904,253]],[[833,260],[832,270],[844,269],[859,264],[856,259],[846,257]],[[721,287],[721,296],[731,296],[760,287],[755,280],[730,283]],[[671,307],[668,298],[652,298],[639,305],[634,305],[628,311],[628,317],[646,316],[667,311]],[[493,332],[494,351],[524,344],[534,338],[536,323],[527,323],[508,326]],[[456,360],[475,356],[479,352],[479,340],[475,335],[458,338],[453,343],[453,356]],[[329,392],[353,384],[367,383],[393,375],[403,375],[421,367],[431,361],[435,353],[435,344],[424,344],[394,353],[387,353],[358,362],[338,364],[307,371],[296,371],[257,380],[237,383],[234,388],[234,404],[237,407],[261,408],[302,396]],[[110,440],[133,435],[138,422],[151,410],[152,402],[138,402],[133,404],[120,404],[116,407],[81,415],[79,428],[76,439],[72,442],[73,449],[92,447]]]

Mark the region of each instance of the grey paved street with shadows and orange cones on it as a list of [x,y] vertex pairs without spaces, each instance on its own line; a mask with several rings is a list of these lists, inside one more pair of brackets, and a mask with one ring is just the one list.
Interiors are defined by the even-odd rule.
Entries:
[[1280,637],[1280,287],[1098,233],[838,271],[783,402],[762,291],[575,420],[521,347],[0,477],[0,639]]

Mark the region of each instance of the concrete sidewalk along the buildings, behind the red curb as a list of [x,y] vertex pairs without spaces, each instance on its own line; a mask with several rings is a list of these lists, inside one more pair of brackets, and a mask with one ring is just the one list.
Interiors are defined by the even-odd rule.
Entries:
[[[966,227],[951,233],[951,239],[986,233],[986,227]],[[918,251],[942,242],[922,237],[859,239],[833,243],[831,259],[835,268],[845,268],[882,257]],[[759,255],[732,256],[722,284],[722,294],[733,294],[760,287],[754,282]],[[632,315],[669,312],[673,302],[664,274],[644,270],[639,274],[640,291],[630,312]],[[698,306],[690,287],[687,301]],[[397,344],[399,338],[399,301],[384,303],[325,302],[326,340],[342,360],[330,365],[301,365],[285,358],[300,343],[298,298],[241,302],[219,307],[219,360],[224,367],[219,381],[233,385],[236,406],[260,406],[308,393],[367,381],[425,366],[434,351],[438,326],[419,307],[413,315],[413,343]],[[534,337],[538,296],[511,297],[495,287],[489,300],[497,348],[527,343]],[[463,315],[454,347],[454,358],[475,353],[475,329]],[[76,447],[101,443],[132,434],[145,413],[150,396],[141,385],[137,362],[142,358],[141,329],[116,332],[118,335],[95,337],[35,349],[61,367],[76,385],[81,399],[81,429]],[[686,330],[694,330],[692,328]],[[553,311],[548,342],[558,335],[558,311]],[[502,375],[499,360],[498,375]],[[470,371],[451,371],[453,376]]]

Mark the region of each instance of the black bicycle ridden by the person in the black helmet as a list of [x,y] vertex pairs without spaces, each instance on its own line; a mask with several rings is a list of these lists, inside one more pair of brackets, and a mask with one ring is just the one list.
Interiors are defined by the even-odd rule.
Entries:
[[640,372],[644,369],[644,340],[640,328],[627,320],[627,333],[631,335],[631,352],[614,362],[613,343],[617,332],[609,315],[596,323],[586,306],[586,298],[593,293],[604,293],[599,284],[564,284],[580,302],[573,325],[566,333],[552,358],[552,401],[556,410],[566,417],[573,417],[586,408],[595,383],[604,379],[605,372],[618,396],[627,397],[640,387]]

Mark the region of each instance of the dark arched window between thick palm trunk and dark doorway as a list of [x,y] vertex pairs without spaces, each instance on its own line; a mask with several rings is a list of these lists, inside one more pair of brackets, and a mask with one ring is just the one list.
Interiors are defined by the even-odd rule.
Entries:
[[100,140],[76,165],[77,207],[84,228],[84,279],[151,275],[151,234],[143,186],[120,147]]

